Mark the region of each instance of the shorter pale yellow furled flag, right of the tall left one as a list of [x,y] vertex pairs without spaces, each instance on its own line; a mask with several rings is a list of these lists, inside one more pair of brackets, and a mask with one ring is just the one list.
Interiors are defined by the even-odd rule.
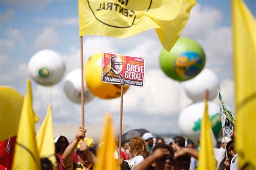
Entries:
[[52,106],[48,106],[48,112],[44,118],[36,141],[40,158],[48,158],[55,165],[55,145],[53,143]]

